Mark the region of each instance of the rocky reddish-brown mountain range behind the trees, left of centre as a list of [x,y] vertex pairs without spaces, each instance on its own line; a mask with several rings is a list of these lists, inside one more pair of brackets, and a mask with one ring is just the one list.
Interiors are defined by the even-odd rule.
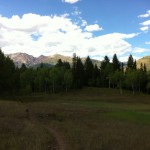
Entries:
[[[14,61],[15,65],[18,67],[21,67],[22,63],[24,63],[27,67],[39,66],[39,64],[41,63],[55,65],[58,59],[61,59],[62,61],[67,61],[70,64],[72,64],[72,57],[63,56],[59,54],[55,54],[52,56],[41,55],[39,57],[33,57],[32,55],[28,55],[26,53],[15,53],[9,54],[7,56],[9,56]],[[84,63],[86,58],[81,58],[81,60]],[[93,64],[97,64],[98,66],[100,66],[100,61],[95,59],[91,60]]]

